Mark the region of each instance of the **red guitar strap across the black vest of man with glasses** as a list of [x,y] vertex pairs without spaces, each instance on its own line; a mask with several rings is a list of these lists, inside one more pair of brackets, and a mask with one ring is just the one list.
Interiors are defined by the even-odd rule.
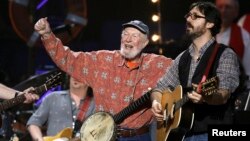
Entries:
[[211,57],[210,57],[209,60],[208,60],[208,64],[207,64],[207,67],[206,67],[206,69],[205,69],[205,73],[204,73],[204,75],[202,76],[202,79],[201,79],[201,81],[200,81],[199,84],[198,84],[198,87],[197,87],[197,92],[198,92],[198,93],[201,93],[201,86],[202,86],[202,83],[205,82],[206,79],[207,79],[208,73],[209,73],[209,71],[210,71],[210,68],[211,68],[213,62],[214,62],[215,56],[216,56],[216,54],[217,54],[217,52],[218,52],[218,49],[219,49],[219,44],[216,43],[215,48],[214,48],[214,50],[213,50],[213,52],[212,52],[212,55],[211,55]]

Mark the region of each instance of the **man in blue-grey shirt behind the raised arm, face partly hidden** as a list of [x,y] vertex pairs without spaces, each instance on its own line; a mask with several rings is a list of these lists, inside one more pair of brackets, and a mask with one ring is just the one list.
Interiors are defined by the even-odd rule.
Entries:
[[[43,141],[44,136],[55,136],[68,127],[73,130],[72,136],[77,137],[80,130],[77,124],[94,112],[92,89],[73,77],[69,81],[69,89],[50,93],[29,118],[27,128],[33,140]],[[45,124],[46,134],[42,131]]]

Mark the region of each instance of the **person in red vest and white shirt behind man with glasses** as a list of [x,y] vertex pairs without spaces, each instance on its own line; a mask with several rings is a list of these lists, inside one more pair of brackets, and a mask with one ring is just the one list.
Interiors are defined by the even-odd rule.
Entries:
[[247,75],[246,86],[250,89],[250,34],[235,23],[239,14],[238,0],[215,0],[215,5],[221,14],[221,30],[216,35],[218,43],[223,43],[233,48]]

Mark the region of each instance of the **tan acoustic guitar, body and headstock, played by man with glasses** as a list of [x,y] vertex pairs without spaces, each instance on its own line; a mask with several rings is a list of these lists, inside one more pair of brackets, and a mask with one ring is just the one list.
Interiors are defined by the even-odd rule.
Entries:
[[[205,96],[210,96],[217,91],[217,87],[218,78],[212,77],[202,83],[201,92]],[[193,107],[187,103],[188,101],[187,95],[183,95],[181,85],[178,85],[173,91],[164,91],[161,101],[164,120],[157,122],[157,141],[167,139],[182,141],[184,139],[186,132],[192,128],[194,120]],[[170,117],[171,111],[173,111],[173,118]]]

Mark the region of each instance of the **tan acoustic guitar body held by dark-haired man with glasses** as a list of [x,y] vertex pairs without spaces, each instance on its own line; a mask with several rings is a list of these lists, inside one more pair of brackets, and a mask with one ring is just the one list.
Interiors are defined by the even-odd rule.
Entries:
[[[166,90],[162,95],[162,108],[166,117],[165,121],[157,122],[157,141],[177,141],[182,140],[186,131],[191,129],[193,123],[193,111],[187,104],[176,108],[180,100],[183,99],[182,87],[177,86],[174,91]],[[181,103],[182,104],[182,103]],[[176,110],[175,110],[176,109]],[[171,118],[171,111],[174,117]]]

